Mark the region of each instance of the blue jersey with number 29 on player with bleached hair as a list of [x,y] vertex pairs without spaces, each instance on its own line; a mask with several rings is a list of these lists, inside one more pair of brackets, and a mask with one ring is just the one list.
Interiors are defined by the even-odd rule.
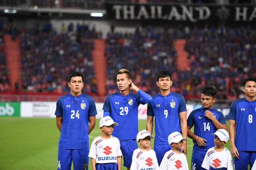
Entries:
[[[140,105],[140,94],[129,93],[123,96],[120,92],[110,94],[106,97],[103,110],[110,113],[114,122],[112,135],[120,141],[136,139],[138,133],[138,107]],[[143,103],[145,104],[145,103]]]

